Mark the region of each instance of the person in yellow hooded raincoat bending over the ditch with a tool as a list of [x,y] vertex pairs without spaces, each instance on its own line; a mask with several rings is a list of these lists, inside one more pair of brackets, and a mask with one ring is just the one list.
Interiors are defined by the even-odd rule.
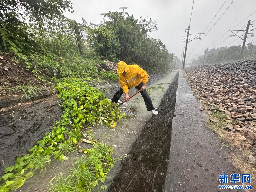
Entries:
[[146,92],[146,83],[148,82],[147,72],[138,65],[127,65],[124,61],[120,61],[116,73],[119,74],[121,87],[111,101],[117,103],[123,93],[125,93],[125,100],[129,101],[129,89],[135,87],[137,90],[141,90],[140,93],[147,110],[151,111],[153,115],[157,115],[158,111],[155,110],[152,100]]

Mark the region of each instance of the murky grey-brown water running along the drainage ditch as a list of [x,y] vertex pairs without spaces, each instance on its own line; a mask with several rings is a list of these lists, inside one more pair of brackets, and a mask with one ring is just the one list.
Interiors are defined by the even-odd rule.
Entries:
[[[167,90],[176,74],[177,71],[169,73],[164,78],[149,85],[148,88],[162,86],[165,90]],[[150,97],[153,100],[153,105],[155,108],[159,106],[164,94],[165,92],[161,92],[159,89],[151,91]],[[134,96],[129,102],[127,102],[127,104],[123,106],[131,106],[135,108],[134,113],[136,114],[136,118],[120,120],[115,127],[115,131],[110,131],[110,129],[104,125],[92,127],[92,134],[95,134],[95,139],[97,139],[99,142],[103,142],[106,145],[113,146],[113,157],[115,158],[125,157],[126,154],[129,155],[128,153],[132,147],[131,145],[134,141],[136,141],[145,123],[152,117],[152,113],[146,110],[145,103],[140,94]],[[60,171],[63,173],[63,175],[67,175],[69,173],[69,169],[71,168],[78,155],[80,154],[73,152],[66,155],[69,157],[68,160],[52,160],[52,162],[41,173],[39,171],[35,172],[34,176],[26,180],[25,184],[18,190],[48,191],[49,181],[53,177],[58,176]],[[115,167],[109,173],[109,176],[106,179],[104,185],[111,185],[114,176],[119,173],[121,169],[120,164],[121,161],[116,161]]]

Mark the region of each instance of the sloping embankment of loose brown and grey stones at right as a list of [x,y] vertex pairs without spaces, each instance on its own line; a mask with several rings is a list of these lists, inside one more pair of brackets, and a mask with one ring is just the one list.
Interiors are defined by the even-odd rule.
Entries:
[[225,113],[227,130],[256,154],[256,60],[189,67],[184,76],[207,109]]

